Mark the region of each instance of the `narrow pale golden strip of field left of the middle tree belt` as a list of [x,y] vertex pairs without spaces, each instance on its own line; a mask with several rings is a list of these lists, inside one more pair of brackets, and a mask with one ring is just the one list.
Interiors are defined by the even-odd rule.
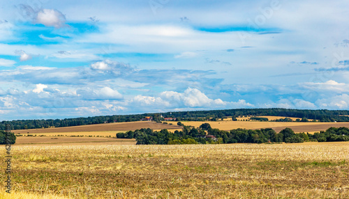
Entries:
[[67,137],[67,136],[20,136],[17,137],[15,145],[23,144],[47,144],[47,143],[117,143],[117,144],[135,144],[135,139],[118,138],[99,138],[99,137]]

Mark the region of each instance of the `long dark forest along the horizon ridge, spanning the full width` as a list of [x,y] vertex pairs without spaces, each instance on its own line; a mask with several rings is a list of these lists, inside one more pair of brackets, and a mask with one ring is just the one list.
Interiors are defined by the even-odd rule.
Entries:
[[[299,110],[299,109],[227,109],[214,111],[179,111],[168,113],[144,113],[135,115],[120,116],[95,116],[88,118],[69,118],[56,120],[13,120],[0,122],[0,130],[5,129],[5,124],[10,123],[12,129],[37,129],[49,127],[71,127],[79,125],[93,125],[104,122],[133,122],[139,121],[146,116],[153,117],[153,120],[160,122],[163,118],[176,118],[188,121],[218,120],[232,117],[236,120],[239,116],[281,116],[304,118],[307,120],[319,120],[320,122],[349,122],[349,111],[328,111],[328,110]],[[161,117],[163,116],[163,118]],[[280,119],[279,119],[280,120]],[[281,120],[280,120],[281,121]]]

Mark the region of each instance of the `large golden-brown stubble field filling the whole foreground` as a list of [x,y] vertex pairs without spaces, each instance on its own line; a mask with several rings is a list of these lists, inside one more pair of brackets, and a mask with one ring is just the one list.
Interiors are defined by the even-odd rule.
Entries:
[[12,154],[13,197],[349,197],[349,143],[13,145]]

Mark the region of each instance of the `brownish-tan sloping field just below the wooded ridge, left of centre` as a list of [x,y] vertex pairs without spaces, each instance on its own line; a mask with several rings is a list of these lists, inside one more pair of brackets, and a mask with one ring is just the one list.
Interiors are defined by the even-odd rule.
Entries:
[[[177,123],[176,123],[177,124]],[[22,129],[13,130],[15,134],[40,134],[40,133],[59,133],[59,132],[119,132],[119,131],[134,131],[136,129],[181,129],[177,125],[164,125],[156,122],[140,121],[140,122],[117,122],[98,125],[83,125],[75,127],[57,127],[47,129]]]

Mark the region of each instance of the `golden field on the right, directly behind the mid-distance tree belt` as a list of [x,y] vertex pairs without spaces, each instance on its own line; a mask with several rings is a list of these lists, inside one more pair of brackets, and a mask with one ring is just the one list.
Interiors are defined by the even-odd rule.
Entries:
[[[169,122],[170,123],[170,122]],[[172,122],[174,125],[177,122]],[[209,123],[212,128],[230,131],[231,129],[265,129],[272,128],[280,132],[290,127],[294,132],[320,132],[329,127],[349,127],[349,122],[259,122],[259,121],[209,121],[209,122],[182,122],[184,125],[200,127],[202,123]]]

